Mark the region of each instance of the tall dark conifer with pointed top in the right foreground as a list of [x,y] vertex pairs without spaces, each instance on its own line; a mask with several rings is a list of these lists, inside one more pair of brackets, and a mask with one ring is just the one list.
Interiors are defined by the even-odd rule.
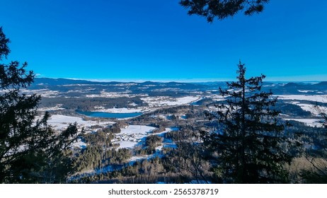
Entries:
[[285,145],[284,127],[272,110],[277,98],[261,91],[263,78],[245,78],[246,68],[239,63],[238,81],[227,83],[220,93],[226,104],[217,112],[207,112],[216,120],[213,132],[202,132],[205,145],[216,163],[219,182],[278,183],[286,182],[285,163],[292,158]]

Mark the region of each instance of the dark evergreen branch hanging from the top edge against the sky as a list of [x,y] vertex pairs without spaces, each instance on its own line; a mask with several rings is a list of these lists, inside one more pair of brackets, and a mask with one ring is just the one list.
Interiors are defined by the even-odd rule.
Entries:
[[188,14],[204,16],[208,22],[214,18],[224,19],[244,10],[245,15],[260,13],[269,0],[181,0],[180,5],[188,9]]

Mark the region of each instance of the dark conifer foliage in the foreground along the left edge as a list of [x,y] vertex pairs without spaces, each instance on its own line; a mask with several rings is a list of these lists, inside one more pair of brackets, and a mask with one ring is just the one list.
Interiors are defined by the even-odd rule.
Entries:
[[[0,61],[10,50],[0,27]],[[76,124],[56,134],[47,124],[49,113],[37,120],[40,95],[22,93],[33,83],[27,63],[0,63],[0,183],[65,182],[73,168],[69,145]]]

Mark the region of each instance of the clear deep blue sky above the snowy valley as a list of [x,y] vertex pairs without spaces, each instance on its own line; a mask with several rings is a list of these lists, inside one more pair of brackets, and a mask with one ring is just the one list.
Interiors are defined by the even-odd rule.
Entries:
[[39,77],[123,81],[327,81],[327,1],[272,0],[210,24],[178,0],[3,0],[8,60]]

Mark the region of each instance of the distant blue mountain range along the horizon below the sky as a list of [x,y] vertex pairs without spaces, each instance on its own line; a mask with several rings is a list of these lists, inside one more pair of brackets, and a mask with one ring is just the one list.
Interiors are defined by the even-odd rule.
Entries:
[[[181,83],[181,82],[97,82],[86,80],[74,80],[67,78],[35,78],[29,89],[49,89],[51,91],[67,92],[71,90],[87,91],[98,93],[108,92],[129,92],[129,93],[160,93],[160,92],[195,92],[195,91],[217,91],[219,87],[226,87],[226,83],[203,82],[203,83]],[[327,81],[319,83],[306,82],[264,82],[263,90],[276,95],[324,95],[327,94]]]

